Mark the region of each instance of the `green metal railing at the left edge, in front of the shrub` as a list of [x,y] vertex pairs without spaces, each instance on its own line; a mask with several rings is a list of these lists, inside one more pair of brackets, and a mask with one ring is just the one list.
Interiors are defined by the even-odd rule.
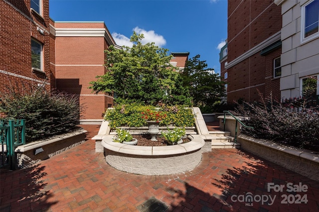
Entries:
[[0,120],[1,167],[15,168],[15,147],[25,144],[25,120]]

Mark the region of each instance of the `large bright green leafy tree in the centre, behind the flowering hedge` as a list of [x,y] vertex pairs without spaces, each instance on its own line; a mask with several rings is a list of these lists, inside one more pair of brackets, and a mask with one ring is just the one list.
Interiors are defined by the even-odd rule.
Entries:
[[187,90],[182,87],[180,75],[169,64],[171,55],[167,49],[155,46],[155,43],[142,44],[143,34],[133,33],[133,47],[123,46],[117,49],[110,46],[107,55],[107,72],[90,82],[94,92],[114,92],[116,101],[133,100],[157,105],[189,105]]

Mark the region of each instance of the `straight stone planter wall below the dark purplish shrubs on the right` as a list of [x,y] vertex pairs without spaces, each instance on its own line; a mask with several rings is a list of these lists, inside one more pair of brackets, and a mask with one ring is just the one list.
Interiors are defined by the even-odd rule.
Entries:
[[312,180],[319,181],[319,153],[309,150],[294,149],[272,143],[271,141],[255,139],[239,135],[240,148],[289,170],[297,172]]

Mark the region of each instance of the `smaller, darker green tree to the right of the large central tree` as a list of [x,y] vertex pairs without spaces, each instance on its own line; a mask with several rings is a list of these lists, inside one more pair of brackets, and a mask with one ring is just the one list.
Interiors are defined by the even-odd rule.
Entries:
[[200,55],[186,61],[181,73],[183,86],[189,90],[194,106],[213,106],[220,101],[224,92],[220,76],[214,69],[207,68],[206,61],[200,61]]

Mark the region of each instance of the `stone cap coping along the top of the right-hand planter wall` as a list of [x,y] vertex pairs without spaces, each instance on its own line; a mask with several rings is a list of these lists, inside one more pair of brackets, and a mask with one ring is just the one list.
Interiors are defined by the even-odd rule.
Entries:
[[268,146],[269,148],[272,148],[272,149],[283,151],[283,152],[286,152],[288,154],[295,155],[297,157],[301,157],[301,158],[319,163],[319,153],[317,153],[317,154],[313,153],[311,150],[298,149],[298,148],[294,149],[292,147],[281,146],[281,145],[278,145],[276,143],[272,143],[272,142],[269,142],[266,140],[256,139],[256,138],[246,136],[246,135],[239,135],[238,138],[249,140],[249,141],[257,143],[257,144]]

